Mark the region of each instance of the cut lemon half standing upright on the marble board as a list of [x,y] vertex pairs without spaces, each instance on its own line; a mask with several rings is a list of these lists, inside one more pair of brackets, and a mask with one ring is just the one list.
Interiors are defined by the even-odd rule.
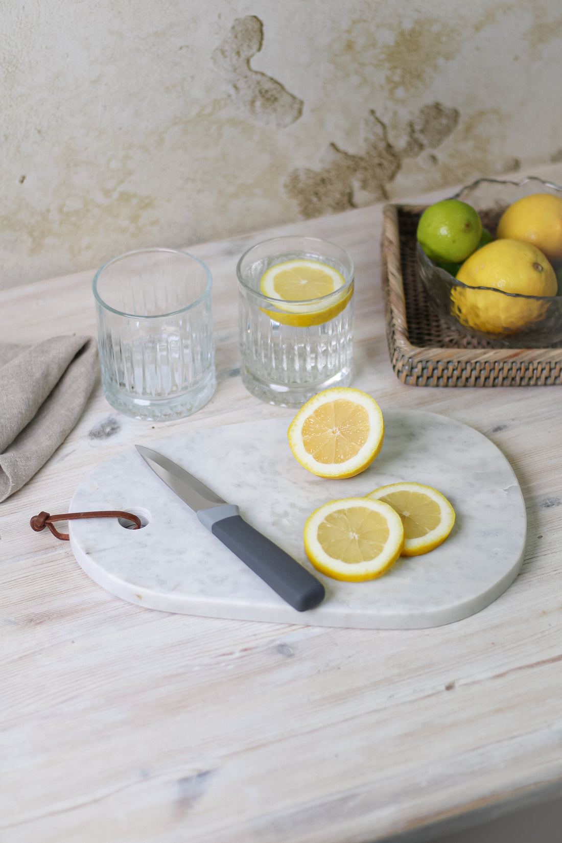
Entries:
[[353,477],[383,447],[383,413],[361,389],[324,389],[302,405],[287,436],[295,459],[313,475]]

